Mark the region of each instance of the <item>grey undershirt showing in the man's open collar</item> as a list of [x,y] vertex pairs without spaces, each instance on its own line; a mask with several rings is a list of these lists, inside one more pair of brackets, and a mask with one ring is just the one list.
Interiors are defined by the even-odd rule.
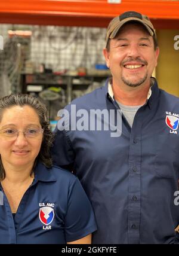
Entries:
[[133,124],[133,121],[134,121],[134,117],[135,117],[135,114],[137,112],[137,110],[143,106],[143,105],[140,105],[140,106],[125,106],[125,105],[122,105],[120,102],[116,101],[119,105],[119,108],[121,108],[122,110],[122,113],[124,114],[126,120],[128,121],[129,123],[129,126],[132,127],[132,124]]

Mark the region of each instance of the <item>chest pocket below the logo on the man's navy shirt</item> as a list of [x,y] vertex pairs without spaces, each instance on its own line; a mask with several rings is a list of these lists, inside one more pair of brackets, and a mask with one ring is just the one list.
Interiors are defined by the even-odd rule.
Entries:
[[155,138],[156,155],[154,169],[158,176],[175,178],[179,176],[179,136],[162,133]]

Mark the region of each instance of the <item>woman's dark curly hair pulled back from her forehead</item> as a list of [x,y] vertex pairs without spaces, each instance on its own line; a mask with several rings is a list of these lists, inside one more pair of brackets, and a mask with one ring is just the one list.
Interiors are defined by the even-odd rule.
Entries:
[[[42,129],[44,129],[41,149],[36,160],[41,161],[45,166],[52,166],[50,148],[53,145],[54,135],[50,130],[47,108],[36,97],[31,95],[12,94],[0,99],[0,122],[5,109],[13,106],[31,106],[38,114]],[[5,178],[5,170],[0,158],[0,180]]]

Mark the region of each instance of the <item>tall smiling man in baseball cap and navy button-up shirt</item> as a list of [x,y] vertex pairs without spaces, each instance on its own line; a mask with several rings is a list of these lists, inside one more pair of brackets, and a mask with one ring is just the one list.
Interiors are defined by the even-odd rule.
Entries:
[[[112,78],[66,107],[54,163],[73,170],[91,200],[93,243],[178,243],[179,100],[151,77],[159,48],[149,18],[134,11],[115,17],[103,52]],[[111,129],[79,129],[80,113],[88,123],[91,109],[115,111]],[[95,121],[105,124],[104,115]]]

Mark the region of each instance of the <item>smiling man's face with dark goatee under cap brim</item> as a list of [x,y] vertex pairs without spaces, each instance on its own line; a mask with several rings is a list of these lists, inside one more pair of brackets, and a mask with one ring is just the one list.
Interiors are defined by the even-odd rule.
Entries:
[[137,87],[149,84],[159,48],[154,50],[153,38],[143,25],[126,24],[116,38],[110,40],[110,51],[104,49],[103,53],[112,72],[113,86]]

